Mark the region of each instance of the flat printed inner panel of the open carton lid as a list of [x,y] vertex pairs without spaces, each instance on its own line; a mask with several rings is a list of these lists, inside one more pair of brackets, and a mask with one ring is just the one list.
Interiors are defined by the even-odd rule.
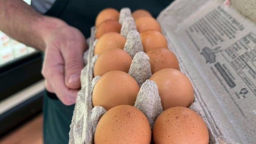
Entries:
[[255,133],[250,123],[256,118],[256,25],[216,0],[176,33],[230,122]]

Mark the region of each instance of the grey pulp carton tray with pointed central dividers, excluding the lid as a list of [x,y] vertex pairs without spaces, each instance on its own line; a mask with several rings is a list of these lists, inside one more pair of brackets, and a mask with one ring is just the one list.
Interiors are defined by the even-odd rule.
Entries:
[[[147,116],[152,128],[154,121],[163,109],[156,83],[152,80],[148,80],[152,75],[149,57],[143,52],[140,35],[137,32],[129,8],[121,9],[119,22],[122,24],[121,35],[126,37],[126,44],[123,50],[133,58],[128,74],[132,76],[140,86],[140,91],[137,94],[134,106]],[[96,29],[93,27],[89,40],[90,48],[84,54],[84,61],[87,65],[81,72],[81,90],[78,92],[70,125],[69,144],[93,144],[97,123],[106,112],[104,107],[93,107],[92,105],[92,90],[95,83],[100,78],[100,76],[93,78],[93,66],[98,58],[98,55],[94,55],[94,47],[97,42],[97,40],[95,40],[95,31]],[[180,69],[183,71],[182,65]],[[196,95],[194,96],[194,102],[190,106],[190,109],[196,111],[204,119],[209,129],[210,143],[215,143],[216,139],[213,138],[211,133],[213,131],[210,126],[211,123],[207,121]]]

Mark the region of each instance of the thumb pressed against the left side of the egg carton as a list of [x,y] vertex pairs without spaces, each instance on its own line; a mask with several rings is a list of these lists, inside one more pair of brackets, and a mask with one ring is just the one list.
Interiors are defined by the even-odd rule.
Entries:
[[83,54],[80,52],[69,52],[65,61],[65,83],[71,89],[78,89],[81,87],[80,75],[84,67]]

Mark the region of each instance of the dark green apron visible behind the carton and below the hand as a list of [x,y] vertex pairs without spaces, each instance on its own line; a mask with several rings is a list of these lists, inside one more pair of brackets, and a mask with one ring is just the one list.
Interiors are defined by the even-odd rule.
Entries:
[[[129,7],[147,9],[153,17],[168,6],[173,0],[56,0],[46,15],[63,19],[71,26],[78,28],[86,38],[94,25],[97,14],[106,7],[120,10]],[[45,144],[68,144],[69,125],[74,105],[65,106],[55,94],[45,92],[43,113],[43,140]]]

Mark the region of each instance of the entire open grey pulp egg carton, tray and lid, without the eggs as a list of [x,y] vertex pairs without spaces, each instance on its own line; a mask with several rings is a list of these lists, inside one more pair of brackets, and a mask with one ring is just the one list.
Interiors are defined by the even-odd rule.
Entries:
[[[196,111],[209,129],[210,144],[256,143],[256,26],[223,0],[176,0],[157,20],[176,54],[180,69],[192,81]],[[232,1],[231,1],[232,3]],[[152,127],[163,111],[157,86],[152,80],[149,58],[142,45],[128,8],[120,12],[122,32],[127,37],[124,50],[132,57],[129,74],[140,85],[135,107]],[[124,18],[126,17],[126,18]],[[128,23],[128,24],[127,24]],[[126,27],[126,28],[123,28]],[[127,30],[130,28],[130,31]],[[92,90],[100,78],[93,78],[95,28],[84,54],[87,65],[81,73],[73,113],[70,144],[93,144],[98,120],[106,112],[92,106]],[[133,51],[133,49],[135,49]]]

